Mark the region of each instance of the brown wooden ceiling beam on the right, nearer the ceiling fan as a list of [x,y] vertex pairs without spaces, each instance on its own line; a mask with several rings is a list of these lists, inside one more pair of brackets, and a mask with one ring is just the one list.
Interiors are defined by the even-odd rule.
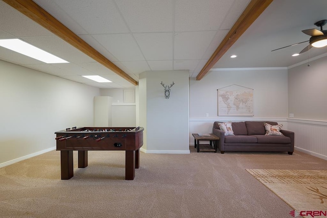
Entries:
[[251,0],[239,19],[229,30],[225,38],[217,47],[214,54],[209,58],[204,67],[199,72],[196,80],[201,80],[207,72],[218,62],[218,60],[228,51],[228,49],[242,36],[242,34],[252,25],[254,20],[264,12],[273,0]]

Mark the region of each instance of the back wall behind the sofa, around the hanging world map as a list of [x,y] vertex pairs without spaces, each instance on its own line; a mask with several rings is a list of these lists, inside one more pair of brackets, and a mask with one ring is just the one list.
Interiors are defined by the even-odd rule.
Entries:
[[[190,78],[190,145],[192,133],[212,133],[215,121],[271,120],[287,129],[287,80],[286,68],[222,69],[200,81]],[[233,84],[253,89],[254,116],[218,116],[217,89]]]

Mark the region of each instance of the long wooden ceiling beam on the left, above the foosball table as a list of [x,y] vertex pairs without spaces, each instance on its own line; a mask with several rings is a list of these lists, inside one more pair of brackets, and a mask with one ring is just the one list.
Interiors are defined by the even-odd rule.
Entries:
[[32,0],[3,0],[8,5],[12,6],[22,14],[28,16],[45,29],[59,36],[69,44],[76,47],[78,50],[93,58],[100,64],[109,68],[128,82],[137,85],[137,81],[131,78],[125,71],[109,61],[106,57],[100,54],[97,50],[87,44],[83,39],[65,27],[59,20],[46,12]]

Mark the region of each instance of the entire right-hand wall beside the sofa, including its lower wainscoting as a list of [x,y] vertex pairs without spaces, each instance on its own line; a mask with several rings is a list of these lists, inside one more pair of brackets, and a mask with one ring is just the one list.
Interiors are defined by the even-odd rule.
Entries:
[[298,150],[327,160],[327,57],[289,69],[288,126]]

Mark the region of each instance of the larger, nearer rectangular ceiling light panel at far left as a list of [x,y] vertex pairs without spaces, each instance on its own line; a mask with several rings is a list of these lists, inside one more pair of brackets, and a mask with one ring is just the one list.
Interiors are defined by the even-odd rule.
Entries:
[[20,39],[0,39],[0,46],[47,64],[69,63]]

